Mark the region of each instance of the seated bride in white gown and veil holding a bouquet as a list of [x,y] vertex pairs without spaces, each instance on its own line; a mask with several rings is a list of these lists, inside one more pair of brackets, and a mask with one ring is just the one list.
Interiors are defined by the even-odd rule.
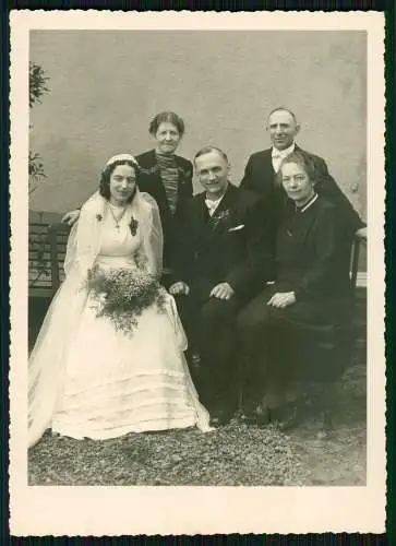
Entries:
[[157,282],[158,209],[136,175],[132,155],[111,157],[70,234],[65,280],[29,358],[29,447],[47,428],[76,439],[211,430],[175,300]]

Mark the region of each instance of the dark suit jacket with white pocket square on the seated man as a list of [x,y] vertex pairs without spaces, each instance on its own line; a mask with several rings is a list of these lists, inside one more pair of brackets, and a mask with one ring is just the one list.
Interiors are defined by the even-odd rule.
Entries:
[[262,289],[271,269],[263,214],[259,195],[232,185],[212,217],[205,193],[192,198],[180,228],[177,277],[201,300],[221,282],[241,300]]

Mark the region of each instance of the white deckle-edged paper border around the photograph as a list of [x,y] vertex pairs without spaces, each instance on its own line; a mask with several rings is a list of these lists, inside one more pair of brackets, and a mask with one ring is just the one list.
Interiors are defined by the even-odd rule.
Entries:
[[[10,532],[16,536],[385,531],[384,14],[12,11]],[[27,485],[27,151],[32,29],[356,29],[368,33],[368,479],[364,487]],[[265,515],[263,515],[265,514]]]

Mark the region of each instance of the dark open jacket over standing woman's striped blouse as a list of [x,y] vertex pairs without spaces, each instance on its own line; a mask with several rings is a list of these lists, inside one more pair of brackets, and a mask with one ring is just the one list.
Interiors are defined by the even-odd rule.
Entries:
[[175,260],[176,224],[181,222],[187,202],[192,198],[192,163],[179,155],[175,156],[179,170],[178,201],[175,214],[171,213],[160,178],[159,165],[155,151],[151,150],[136,157],[142,171],[139,176],[139,188],[149,193],[157,202],[164,230],[164,264],[172,268]]

